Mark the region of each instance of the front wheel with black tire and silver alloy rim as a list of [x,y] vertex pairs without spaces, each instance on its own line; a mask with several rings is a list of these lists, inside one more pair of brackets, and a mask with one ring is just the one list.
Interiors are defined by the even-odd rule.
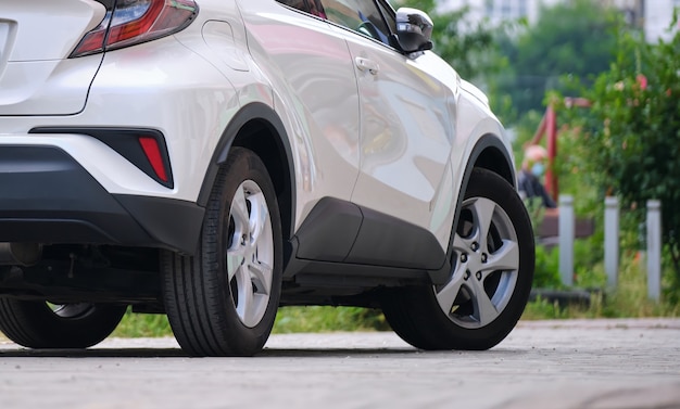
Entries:
[[382,310],[394,332],[415,347],[489,349],[517,323],[533,280],[531,221],[505,179],[473,170],[452,247],[453,269],[444,285],[386,292]]

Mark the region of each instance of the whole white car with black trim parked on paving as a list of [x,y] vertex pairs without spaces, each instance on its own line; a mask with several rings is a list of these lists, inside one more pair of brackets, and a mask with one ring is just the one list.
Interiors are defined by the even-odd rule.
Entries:
[[431,29],[385,0],[0,0],[0,330],[83,348],[131,306],[240,356],[279,306],[351,305],[496,345],[532,229]]

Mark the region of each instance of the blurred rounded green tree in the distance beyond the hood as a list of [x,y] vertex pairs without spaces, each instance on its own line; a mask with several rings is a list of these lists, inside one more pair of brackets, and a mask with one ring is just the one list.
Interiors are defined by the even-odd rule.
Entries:
[[588,80],[608,69],[615,53],[616,22],[617,12],[599,1],[565,1],[541,8],[534,25],[501,39],[509,66],[496,78],[495,89],[509,95],[513,119],[542,110],[546,91],[564,91],[562,76]]

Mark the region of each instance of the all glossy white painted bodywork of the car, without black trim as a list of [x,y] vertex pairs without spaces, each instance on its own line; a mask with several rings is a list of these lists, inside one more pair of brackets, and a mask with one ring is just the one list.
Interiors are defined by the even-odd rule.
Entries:
[[[70,21],[79,23],[56,31],[61,46],[40,61],[8,57],[0,65],[0,149],[60,146],[111,193],[197,201],[229,120],[259,102],[276,111],[288,132],[295,228],[318,200],[332,196],[427,228],[446,248],[467,158],[479,138],[503,135],[484,98],[435,54],[404,56],[273,0],[202,0],[182,31],[103,60],[65,59],[102,14],[89,0],[54,0],[64,2]],[[0,0],[3,14],[10,3],[18,4]],[[43,21],[37,15],[27,26]],[[2,64],[21,31],[0,22]],[[35,52],[12,55],[40,55]],[[91,138],[27,135],[39,126],[159,129],[175,188]]]

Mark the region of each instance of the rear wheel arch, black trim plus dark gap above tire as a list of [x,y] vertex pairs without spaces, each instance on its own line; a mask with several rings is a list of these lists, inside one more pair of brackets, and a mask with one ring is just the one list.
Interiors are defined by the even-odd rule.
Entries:
[[201,186],[199,205],[206,205],[217,170],[227,161],[232,146],[250,149],[264,162],[276,191],[284,240],[289,240],[293,232],[295,212],[292,151],[284,123],[266,104],[253,102],[234,115],[213,153]]

